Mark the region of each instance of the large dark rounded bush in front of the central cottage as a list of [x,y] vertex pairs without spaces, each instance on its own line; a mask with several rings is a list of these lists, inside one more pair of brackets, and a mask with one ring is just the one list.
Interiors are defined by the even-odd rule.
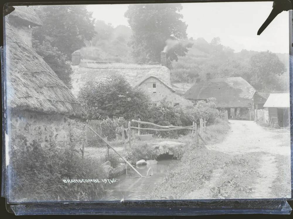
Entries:
[[78,99],[89,119],[144,118],[151,105],[146,93],[132,87],[117,74],[106,76],[103,81],[88,83],[79,91]]

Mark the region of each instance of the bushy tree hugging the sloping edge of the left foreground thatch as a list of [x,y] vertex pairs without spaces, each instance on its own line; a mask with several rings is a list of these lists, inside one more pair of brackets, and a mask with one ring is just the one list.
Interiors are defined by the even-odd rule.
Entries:
[[38,41],[33,40],[33,47],[57,74],[58,78],[60,78],[69,89],[72,88],[70,75],[73,71],[71,65],[66,61],[66,55],[59,52],[56,47],[52,47],[47,41],[43,41],[43,44],[40,44]]

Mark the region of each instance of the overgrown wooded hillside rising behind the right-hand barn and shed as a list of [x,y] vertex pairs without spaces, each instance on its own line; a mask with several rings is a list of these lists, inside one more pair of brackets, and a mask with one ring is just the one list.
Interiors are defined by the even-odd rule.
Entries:
[[211,42],[203,38],[192,42],[193,47],[186,56],[172,62],[173,83],[204,81],[206,74],[210,73],[211,78],[240,76],[259,92],[289,90],[289,65],[284,65],[288,63],[284,54],[247,50],[235,53],[223,46],[219,37]]

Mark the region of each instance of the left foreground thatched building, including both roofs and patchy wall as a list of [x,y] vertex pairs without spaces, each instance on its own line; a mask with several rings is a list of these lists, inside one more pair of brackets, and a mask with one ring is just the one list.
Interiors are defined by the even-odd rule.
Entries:
[[15,8],[5,17],[4,107],[8,148],[15,149],[24,141],[37,141],[41,146],[46,142],[68,145],[67,118],[80,116],[84,109],[31,47],[30,28],[42,25],[41,20],[30,7]]

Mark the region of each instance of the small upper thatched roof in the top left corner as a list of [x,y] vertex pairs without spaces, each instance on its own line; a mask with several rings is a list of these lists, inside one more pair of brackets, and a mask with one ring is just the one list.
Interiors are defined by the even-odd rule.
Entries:
[[26,25],[42,26],[43,22],[39,16],[35,13],[31,6],[13,6],[15,8],[9,15],[9,19],[20,21]]

